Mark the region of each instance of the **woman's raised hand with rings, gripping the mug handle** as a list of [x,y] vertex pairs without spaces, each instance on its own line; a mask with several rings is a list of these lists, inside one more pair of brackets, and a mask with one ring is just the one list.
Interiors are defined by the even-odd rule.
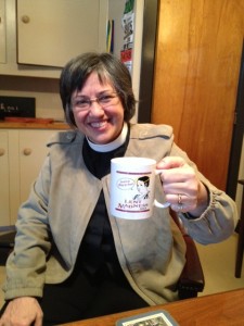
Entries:
[[200,216],[208,205],[208,193],[198,180],[194,168],[182,158],[166,156],[157,163],[163,170],[160,179],[166,201],[176,212],[189,212]]

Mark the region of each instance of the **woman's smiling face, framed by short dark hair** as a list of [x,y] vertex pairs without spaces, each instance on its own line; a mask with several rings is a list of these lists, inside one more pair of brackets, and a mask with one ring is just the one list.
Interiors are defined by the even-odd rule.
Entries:
[[[104,96],[115,97],[112,105],[92,101],[87,110],[76,108],[78,102],[89,102]],[[108,143],[116,139],[124,124],[124,108],[111,84],[101,84],[97,73],[92,73],[81,90],[72,95],[72,105],[76,125],[94,143]]]

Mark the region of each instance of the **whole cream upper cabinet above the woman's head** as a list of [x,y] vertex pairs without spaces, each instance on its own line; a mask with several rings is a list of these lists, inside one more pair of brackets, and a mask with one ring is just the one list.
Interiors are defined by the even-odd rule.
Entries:
[[7,60],[0,74],[59,78],[70,58],[106,49],[108,0],[0,0],[0,10],[1,3]]

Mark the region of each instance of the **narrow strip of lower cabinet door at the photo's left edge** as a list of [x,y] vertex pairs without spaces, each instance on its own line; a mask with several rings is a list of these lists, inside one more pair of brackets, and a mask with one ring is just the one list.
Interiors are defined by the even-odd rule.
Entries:
[[0,226],[10,225],[8,131],[0,131]]

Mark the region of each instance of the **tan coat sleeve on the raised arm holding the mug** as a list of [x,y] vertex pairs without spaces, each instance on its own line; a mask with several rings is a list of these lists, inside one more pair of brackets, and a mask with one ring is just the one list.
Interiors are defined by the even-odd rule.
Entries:
[[216,243],[230,237],[237,223],[235,202],[222,190],[217,189],[190,161],[187,153],[176,145],[170,155],[182,156],[195,171],[200,180],[209,193],[209,203],[205,212],[197,218],[189,218],[188,214],[178,213],[188,234],[202,244]]

